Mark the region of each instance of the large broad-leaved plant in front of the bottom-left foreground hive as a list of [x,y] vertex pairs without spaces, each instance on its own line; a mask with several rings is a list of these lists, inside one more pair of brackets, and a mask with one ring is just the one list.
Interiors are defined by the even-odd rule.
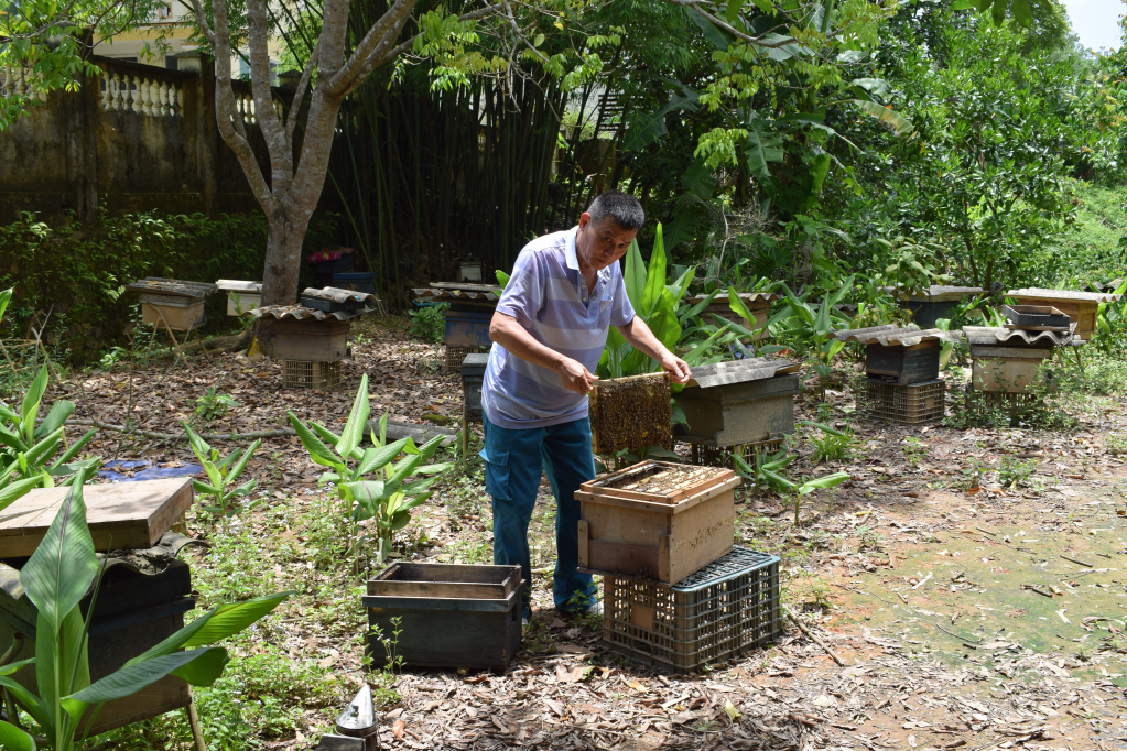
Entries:
[[[97,575],[98,557],[86,522],[79,480],[19,574],[27,598],[38,611],[36,656],[0,669],[0,686],[35,719],[45,736],[43,744],[55,751],[70,751],[85,742],[89,727],[82,727],[80,719],[90,705],[97,712],[106,701],[144,690],[168,674],[193,686],[211,686],[223,673],[229,658],[223,647],[210,645],[248,628],[289,596],[284,592],[214,608],[116,672],[91,682],[89,620],[83,620],[79,602]],[[32,662],[38,695],[9,678]],[[0,745],[6,751],[36,748],[32,735],[7,722],[0,722]]]

